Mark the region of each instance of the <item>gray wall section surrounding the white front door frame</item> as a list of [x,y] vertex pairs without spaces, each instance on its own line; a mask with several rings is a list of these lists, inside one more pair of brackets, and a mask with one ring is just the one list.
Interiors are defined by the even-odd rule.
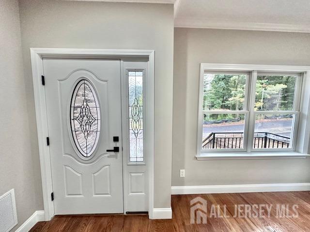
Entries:
[[[173,6],[20,0],[21,35],[32,159],[41,190],[30,47],[155,50],[155,207],[170,207]],[[42,191],[39,208],[43,209]]]

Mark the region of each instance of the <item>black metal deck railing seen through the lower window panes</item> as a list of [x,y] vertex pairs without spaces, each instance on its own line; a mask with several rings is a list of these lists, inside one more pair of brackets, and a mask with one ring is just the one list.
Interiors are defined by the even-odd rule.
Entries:
[[[288,148],[291,139],[286,136],[269,132],[254,133],[254,148]],[[203,149],[242,148],[243,132],[212,132],[202,141]]]

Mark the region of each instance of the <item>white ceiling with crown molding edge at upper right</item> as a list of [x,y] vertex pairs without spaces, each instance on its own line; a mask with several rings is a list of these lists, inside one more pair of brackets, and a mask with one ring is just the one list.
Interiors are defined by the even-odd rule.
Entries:
[[174,4],[174,27],[310,32],[310,0],[92,1]]

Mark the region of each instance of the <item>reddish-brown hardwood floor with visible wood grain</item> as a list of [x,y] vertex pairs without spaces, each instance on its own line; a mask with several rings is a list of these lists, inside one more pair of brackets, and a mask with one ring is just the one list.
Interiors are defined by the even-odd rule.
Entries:
[[[190,224],[190,201],[200,196],[212,204],[227,205],[229,218],[207,218],[207,224]],[[31,232],[310,232],[310,191],[173,195],[172,219],[149,220],[147,215],[56,216],[39,222]],[[235,204],[272,204],[271,217],[233,217]],[[298,204],[298,217],[276,217],[276,204]],[[222,211],[221,211],[222,212]],[[267,211],[265,211],[267,212]]]

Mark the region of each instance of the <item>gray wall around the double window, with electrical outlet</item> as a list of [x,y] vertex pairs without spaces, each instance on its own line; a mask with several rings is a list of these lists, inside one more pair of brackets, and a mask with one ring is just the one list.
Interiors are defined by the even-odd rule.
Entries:
[[310,65],[310,34],[174,29],[172,186],[310,182],[310,159],[195,159],[200,63]]

